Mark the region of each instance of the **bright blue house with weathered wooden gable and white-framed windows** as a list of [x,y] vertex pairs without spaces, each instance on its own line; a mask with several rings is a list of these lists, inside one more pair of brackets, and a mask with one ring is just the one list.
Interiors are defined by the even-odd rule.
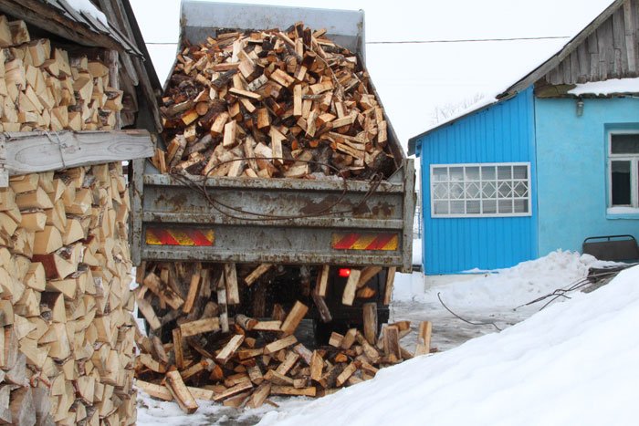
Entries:
[[638,3],[615,1],[497,99],[409,140],[426,274],[639,239]]

